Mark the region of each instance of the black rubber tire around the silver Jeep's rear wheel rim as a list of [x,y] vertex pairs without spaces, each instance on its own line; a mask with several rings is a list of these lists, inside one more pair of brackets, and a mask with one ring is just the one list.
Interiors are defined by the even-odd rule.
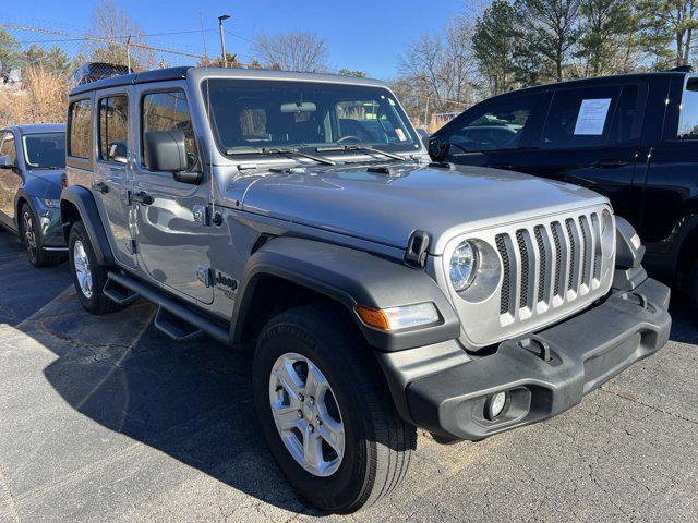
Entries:
[[[92,276],[92,284],[88,289],[89,292],[83,290],[79,279],[74,254],[77,244],[82,246],[88,260],[86,270]],[[70,260],[73,284],[75,285],[75,292],[77,293],[77,299],[80,300],[83,308],[95,316],[101,316],[103,314],[112,313],[121,308],[101,292],[105,288],[105,283],[107,283],[107,267],[97,263],[95,250],[89,242],[89,236],[87,235],[87,231],[85,231],[85,226],[83,226],[82,221],[76,221],[70,228],[68,247],[68,259]]]

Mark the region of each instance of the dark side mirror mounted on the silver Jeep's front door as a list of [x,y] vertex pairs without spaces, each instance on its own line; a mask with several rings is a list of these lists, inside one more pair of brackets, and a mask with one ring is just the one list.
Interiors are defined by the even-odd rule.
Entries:
[[178,182],[201,183],[201,172],[186,172],[186,146],[182,131],[149,131],[143,137],[145,165],[152,171],[171,172]]

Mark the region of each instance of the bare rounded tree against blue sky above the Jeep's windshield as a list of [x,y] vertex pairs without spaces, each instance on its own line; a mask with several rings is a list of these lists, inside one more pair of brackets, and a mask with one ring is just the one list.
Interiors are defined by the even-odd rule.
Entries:
[[327,68],[327,41],[315,33],[257,35],[252,52],[268,69],[317,72]]

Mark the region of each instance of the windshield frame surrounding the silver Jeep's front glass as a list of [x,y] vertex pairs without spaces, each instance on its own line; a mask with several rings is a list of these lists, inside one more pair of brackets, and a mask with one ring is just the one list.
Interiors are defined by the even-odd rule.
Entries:
[[[299,87],[302,87],[303,85],[308,85],[310,87],[328,87],[328,88],[347,88],[347,89],[357,89],[358,90],[358,97],[361,96],[360,92],[366,92],[366,93],[371,93],[375,96],[375,93],[380,93],[381,95],[385,96],[386,99],[392,100],[393,104],[390,104],[394,108],[394,110],[396,111],[397,117],[401,120],[401,123],[405,125],[405,130],[408,133],[407,136],[407,141],[404,144],[387,144],[387,143],[374,143],[374,142],[360,142],[360,143],[350,143],[350,144],[346,144],[346,145],[358,145],[358,146],[366,146],[366,147],[372,147],[378,150],[383,150],[385,145],[389,145],[390,147],[385,147],[385,150],[388,153],[394,153],[394,154],[400,154],[400,155],[405,155],[405,157],[409,157],[410,155],[418,155],[421,154],[423,150],[423,143],[419,136],[419,134],[417,133],[417,131],[414,130],[414,125],[412,125],[412,121],[409,119],[407,112],[405,111],[405,108],[402,107],[402,105],[400,104],[400,101],[398,100],[398,98],[395,96],[395,94],[389,89],[389,87],[384,86],[384,85],[372,85],[372,84],[362,84],[362,83],[333,83],[333,82],[327,82],[325,80],[300,80],[300,78],[274,78],[274,80],[262,80],[262,78],[255,78],[255,77],[245,77],[245,78],[241,78],[241,77],[227,77],[227,76],[206,76],[204,78],[202,78],[201,83],[200,83],[200,94],[203,100],[203,105],[205,108],[205,118],[207,120],[207,124],[208,124],[208,130],[210,131],[210,134],[214,138],[214,143],[216,144],[216,148],[218,150],[218,153],[227,159],[236,159],[236,160],[242,160],[242,161],[250,161],[250,160],[255,160],[255,161],[260,161],[261,159],[269,159],[269,155],[263,155],[263,154],[258,154],[256,151],[250,151],[249,154],[230,154],[229,150],[232,150],[230,147],[226,147],[225,144],[222,143],[222,139],[218,133],[218,129],[217,125],[215,124],[213,118],[212,118],[212,104],[208,99],[208,86],[209,86],[209,82],[210,81],[225,81],[225,82],[229,82],[232,86],[240,86],[240,85],[244,85],[245,83],[249,84],[270,84],[270,83],[287,83],[287,84],[296,84]],[[261,98],[263,99],[263,98]],[[388,102],[389,104],[389,102]],[[263,148],[272,148],[272,149],[276,149],[276,148],[287,148],[287,149],[297,149],[299,151],[303,151],[303,153],[310,153],[310,154],[314,154],[316,151],[316,149],[320,147],[333,147],[333,146],[342,146],[345,144],[341,143],[337,143],[337,142],[321,142],[321,143],[312,143],[312,144],[265,144],[264,146],[257,146],[260,149]],[[241,146],[242,147],[242,146]],[[250,146],[250,147],[255,147],[255,146]],[[361,151],[361,150],[338,150],[336,153],[333,153],[333,157],[335,157],[334,155],[338,155],[340,157],[352,157],[352,156],[371,156],[370,154],[365,153],[365,151]]]

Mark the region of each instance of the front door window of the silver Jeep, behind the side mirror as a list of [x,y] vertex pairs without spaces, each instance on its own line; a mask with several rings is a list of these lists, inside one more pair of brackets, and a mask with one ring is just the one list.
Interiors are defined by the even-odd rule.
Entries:
[[[194,129],[186,104],[186,96],[181,90],[152,93],[143,97],[141,105],[141,144],[143,134],[148,131],[182,131],[184,133],[188,168],[192,169],[198,160],[198,149],[194,139]],[[143,166],[152,170],[145,165]]]

